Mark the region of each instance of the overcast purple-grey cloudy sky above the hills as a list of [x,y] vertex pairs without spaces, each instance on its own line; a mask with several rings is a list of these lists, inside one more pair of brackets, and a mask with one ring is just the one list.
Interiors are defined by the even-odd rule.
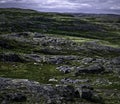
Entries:
[[120,14],[120,0],[0,0],[0,8],[9,7],[47,12]]

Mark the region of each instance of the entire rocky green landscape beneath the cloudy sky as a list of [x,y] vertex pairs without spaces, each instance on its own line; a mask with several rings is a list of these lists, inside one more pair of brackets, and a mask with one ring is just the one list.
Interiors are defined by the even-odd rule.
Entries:
[[0,103],[119,104],[119,21],[0,9]]

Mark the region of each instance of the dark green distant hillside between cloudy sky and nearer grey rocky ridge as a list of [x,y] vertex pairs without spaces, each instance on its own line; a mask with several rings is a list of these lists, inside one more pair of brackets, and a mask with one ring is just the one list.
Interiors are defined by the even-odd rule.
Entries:
[[[118,42],[120,15],[44,13],[30,9],[1,8],[0,33],[40,32]],[[109,37],[109,38],[108,38]]]

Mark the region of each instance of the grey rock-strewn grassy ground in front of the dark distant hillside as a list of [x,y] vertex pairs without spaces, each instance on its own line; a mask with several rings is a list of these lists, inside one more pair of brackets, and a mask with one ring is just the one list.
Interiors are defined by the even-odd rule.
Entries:
[[120,48],[31,32],[0,38],[2,104],[119,103]]

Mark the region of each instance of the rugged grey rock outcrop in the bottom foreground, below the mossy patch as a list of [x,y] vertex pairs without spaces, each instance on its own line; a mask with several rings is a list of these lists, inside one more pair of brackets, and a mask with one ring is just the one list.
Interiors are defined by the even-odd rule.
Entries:
[[[96,94],[97,95],[97,94]],[[0,102],[33,102],[44,104],[63,104],[74,99],[86,99],[96,102],[96,96],[92,87],[80,85],[43,85],[27,79],[0,78]],[[36,100],[37,99],[37,100]],[[98,97],[100,101],[101,97]],[[66,104],[66,103],[65,103]]]

